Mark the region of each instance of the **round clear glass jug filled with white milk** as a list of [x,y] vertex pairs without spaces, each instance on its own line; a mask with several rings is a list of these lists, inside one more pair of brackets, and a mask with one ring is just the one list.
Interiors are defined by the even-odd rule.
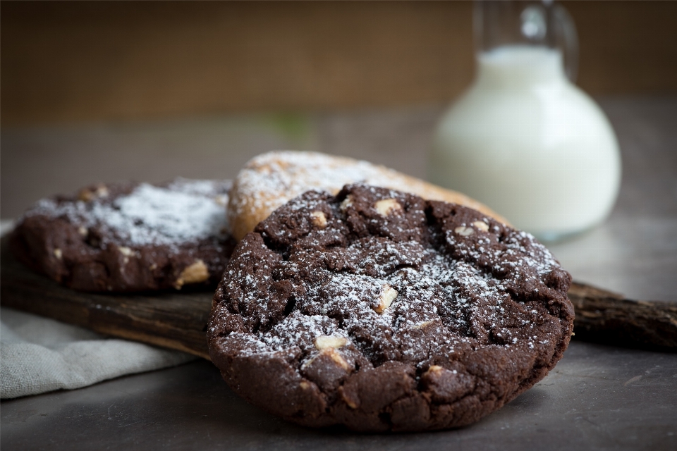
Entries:
[[477,75],[439,123],[429,180],[542,240],[604,221],[621,158],[606,116],[569,80],[571,18],[551,1],[476,1],[474,28]]

